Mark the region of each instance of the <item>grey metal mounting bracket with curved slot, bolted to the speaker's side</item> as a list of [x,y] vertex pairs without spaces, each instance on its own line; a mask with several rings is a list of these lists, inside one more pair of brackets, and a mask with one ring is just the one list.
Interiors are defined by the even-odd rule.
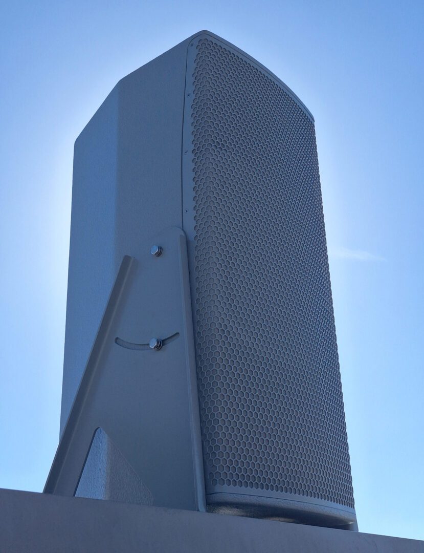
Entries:
[[206,510],[186,236],[151,243],[121,263],[44,492],[75,495],[101,428],[153,505]]

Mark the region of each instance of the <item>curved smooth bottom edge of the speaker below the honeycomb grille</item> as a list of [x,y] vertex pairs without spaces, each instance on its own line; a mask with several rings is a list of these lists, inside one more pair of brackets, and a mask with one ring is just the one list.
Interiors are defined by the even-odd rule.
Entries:
[[358,531],[354,511],[343,506],[222,492],[207,494],[206,503],[209,513]]

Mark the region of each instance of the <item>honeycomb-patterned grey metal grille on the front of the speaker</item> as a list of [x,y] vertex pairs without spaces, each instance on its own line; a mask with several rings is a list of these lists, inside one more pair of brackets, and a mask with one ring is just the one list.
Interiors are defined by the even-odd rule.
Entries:
[[209,39],[197,45],[191,109],[208,493],[353,508],[314,124]]

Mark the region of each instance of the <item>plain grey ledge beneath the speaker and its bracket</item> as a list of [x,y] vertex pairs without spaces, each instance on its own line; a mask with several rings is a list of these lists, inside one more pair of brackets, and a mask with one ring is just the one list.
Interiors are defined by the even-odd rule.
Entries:
[[3,489],[0,551],[424,553],[424,541]]

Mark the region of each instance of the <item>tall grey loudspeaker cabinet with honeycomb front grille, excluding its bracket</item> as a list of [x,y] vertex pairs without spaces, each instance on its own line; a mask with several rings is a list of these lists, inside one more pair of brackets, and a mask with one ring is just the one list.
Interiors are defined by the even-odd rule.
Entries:
[[[139,453],[131,450],[144,496],[163,506],[355,529],[314,119],[303,103],[235,46],[198,33],[125,77],[100,107],[76,143],[72,201],[62,429],[120,260],[132,255],[142,268],[149,237],[178,227],[187,238],[192,316],[165,328],[152,277],[153,288],[139,294],[145,319],[131,315],[126,329],[133,342],[155,332],[192,336],[194,390],[157,404],[176,405],[176,418],[178,405],[189,411],[181,429],[198,447],[184,446],[194,460],[187,471],[202,472],[194,479],[205,503],[167,500],[172,486],[162,476],[180,451],[155,427],[155,401],[149,428],[134,431]],[[123,366],[133,363],[129,355]],[[142,355],[149,371],[147,356],[161,352]],[[172,363],[171,355],[168,378],[185,382],[186,369],[178,376]],[[93,497],[83,488],[94,486],[113,499],[107,482],[82,484],[99,458],[105,474],[122,464],[95,443],[78,494]]]

